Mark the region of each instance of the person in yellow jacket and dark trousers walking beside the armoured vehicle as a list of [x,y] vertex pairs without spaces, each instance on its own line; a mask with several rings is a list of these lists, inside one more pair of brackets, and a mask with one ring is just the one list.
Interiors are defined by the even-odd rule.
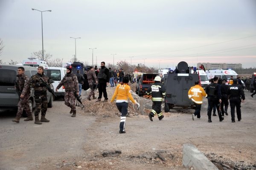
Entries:
[[201,119],[200,111],[203,103],[203,96],[207,96],[207,94],[205,93],[204,88],[199,85],[199,81],[196,81],[195,86],[189,89],[188,96],[195,104],[195,113],[192,114],[192,120],[195,119],[195,116],[197,116],[198,119]]

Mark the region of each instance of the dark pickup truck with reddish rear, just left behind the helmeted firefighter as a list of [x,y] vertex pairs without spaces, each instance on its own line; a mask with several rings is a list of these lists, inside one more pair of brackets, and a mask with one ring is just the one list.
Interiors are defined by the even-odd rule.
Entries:
[[154,84],[154,78],[158,74],[142,74],[136,87],[136,94],[143,96],[146,94],[147,89]]

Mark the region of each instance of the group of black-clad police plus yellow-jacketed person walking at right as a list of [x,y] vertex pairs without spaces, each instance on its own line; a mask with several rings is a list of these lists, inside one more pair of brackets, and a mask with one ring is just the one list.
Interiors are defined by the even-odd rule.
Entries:
[[[240,83],[239,83],[240,80]],[[231,122],[235,121],[235,109],[238,121],[241,121],[241,102],[244,102],[244,87],[242,86],[241,79],[237,76],[237,79],[231,77],[229,85],[227,85],[226,79],[220,79],[214,77],[210,80],[210,84],[207,85],[206,90],[199,85],[199,81],[195,82],[195,86],[191,87],[188,92],[189,99],[195,103],[195,113],[192,114],[192,120],[201,119],[200,111],[203,103],[203,97],[207,97],[208,108],[207,116],[208,122],[212,122],[211,116],[217,116],[218,113],[219,121],[224,120],[224,114],[227,116],[228,106],[230,104]],[[212,114],[213,110],[213,114]]]

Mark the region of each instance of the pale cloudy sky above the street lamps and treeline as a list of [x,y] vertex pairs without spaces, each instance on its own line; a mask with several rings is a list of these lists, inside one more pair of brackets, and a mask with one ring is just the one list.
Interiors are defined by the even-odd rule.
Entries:
[[[256,0],[0,0],[3,62],[42,50],[41,12],[32,8],[45,11],[44,50],[64,62],[76,53],[90,65],[256,68]],[[76,48],[70,37],[81,37]]]

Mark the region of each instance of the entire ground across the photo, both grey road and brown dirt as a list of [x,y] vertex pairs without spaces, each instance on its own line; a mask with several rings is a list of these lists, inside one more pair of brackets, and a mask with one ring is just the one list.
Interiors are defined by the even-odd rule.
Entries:
[[[109,99],[114,90],[107,87]],[[42,125],[13,123],[14,116],[5,112],[0,114],[0,170],[187,170],[182,166],[185,143],[198,147],[220,170],[255,170],[256,98],[250,94],[245,91],[240,122],[231,123],[229,108],[223,122],[212,116],[208,123],[207,99],[202,119],[192,121],[194,110],[176,108],[151,122],[151,99],[134,92],[136,100],[143,100],[144,112],[129,102],[124,134],[119,134],[115,102],[83,99],[85,107],[77,107],[77,116],[71,118],[70,108],[57,99],[47,110],[51,121]]]

